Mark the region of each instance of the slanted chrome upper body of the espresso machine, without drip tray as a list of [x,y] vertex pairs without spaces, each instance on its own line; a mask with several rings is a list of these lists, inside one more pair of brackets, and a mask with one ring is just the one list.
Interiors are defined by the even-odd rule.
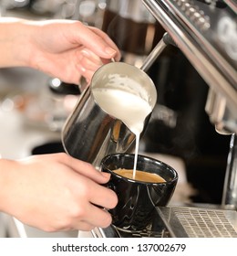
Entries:
[[222,205],[236,209],[237,6],[234,1],[143,2],[209,85],[205,110],[216,131],[232,134]]

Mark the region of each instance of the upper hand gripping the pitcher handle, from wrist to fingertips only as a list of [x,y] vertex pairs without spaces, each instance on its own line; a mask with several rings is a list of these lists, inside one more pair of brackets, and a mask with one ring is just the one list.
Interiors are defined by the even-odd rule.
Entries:
[[120,58],[118,48],[104,32],[79,21],[38,23],[31,47],[32,67],[75,84],[81,76],[89,82],[101,65]]

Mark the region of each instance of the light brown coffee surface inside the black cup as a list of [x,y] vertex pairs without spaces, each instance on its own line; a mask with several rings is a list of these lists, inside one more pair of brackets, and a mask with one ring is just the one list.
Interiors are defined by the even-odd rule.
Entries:
[[133,170],[119,168],[117,170],[114,170],[113,172],[118,174],[119,176],[124,176],[129,179],[134,179],[137,181],[151,182],[151,183],[166,182],[165,179],[163,179],[161,176],[154,173],[144,172],[144,171],[137,170],[135,178],[133,177]]

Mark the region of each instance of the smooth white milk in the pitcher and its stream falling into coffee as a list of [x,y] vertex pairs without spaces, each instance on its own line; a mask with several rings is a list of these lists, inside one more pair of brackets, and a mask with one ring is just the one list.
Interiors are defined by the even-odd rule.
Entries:
[[93,94],[104,111],[125,123],[129,130],[136,135],[133,167],[133,179],[135,179],[139,154],[139,136],[143,131],[145,119],[152,108],[148,101],[129,91],[106,88],[95,89]]

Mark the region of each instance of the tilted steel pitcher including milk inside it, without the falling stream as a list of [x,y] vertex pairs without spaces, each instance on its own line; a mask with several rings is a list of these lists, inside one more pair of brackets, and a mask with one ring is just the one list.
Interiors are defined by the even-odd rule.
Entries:
[[135,133],[128,123],[144,112],[141,103],[147,102],[144,132],[156,101],[156,88],[144,71],[122,62],[102,66],[62,130],[67,154],[97,167],[105,155],[132,152]]

